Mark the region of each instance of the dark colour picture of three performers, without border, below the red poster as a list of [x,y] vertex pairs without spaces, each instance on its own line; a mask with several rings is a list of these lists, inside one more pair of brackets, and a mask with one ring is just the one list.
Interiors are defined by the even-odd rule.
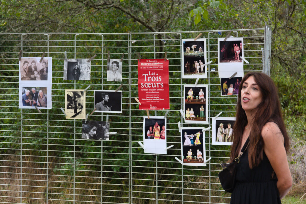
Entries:
[[144,119],[144,138],[145,139],[161,139],[166,138],[165,119]]

